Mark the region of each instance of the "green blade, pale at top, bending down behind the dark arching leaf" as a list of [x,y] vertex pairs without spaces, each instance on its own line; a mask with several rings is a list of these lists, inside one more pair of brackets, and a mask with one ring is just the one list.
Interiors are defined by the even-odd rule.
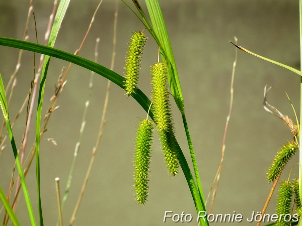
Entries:
[[[63,21],[64,15],[68,8],[70,0],[61,0],[58,5],[58,9],[53,21],[51,28],[48,46],[53,47],[56,37],[59,32],[59,28]],[[39,88],[39,97],[38,97],[38,108],[37,108],[37,122],[36,122],[36,176],[37,176],[37,193],[38,193],[38,208],[39,208],[39,220],[40,225],[43,226],[43,214],[42,214],[42,204],[41,204],[41,191],[40,191],[40,126],[41,126],[41,115],[42,115],[42,105],[43,105],[43,96],[46,82],[46,75],[48,70],[48,65],[50,61],[50,56],[46,55],[43,63],[41,81]]]

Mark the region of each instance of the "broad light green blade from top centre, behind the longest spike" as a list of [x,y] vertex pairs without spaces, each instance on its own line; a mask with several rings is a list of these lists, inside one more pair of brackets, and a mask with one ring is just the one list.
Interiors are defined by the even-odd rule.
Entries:
[[178,78],[177,68],[174,60],[174,55],[164,21],[164,17],[158,0],[145,0],[146,6],[152,21],[153,31],[160,41],[161,48],[164,49],[165,54],[162,54],[163,61],[168,61],[169,66],[169,84],[175,102],[181,112],[184,112],[184,100],[181,91],[181,86]]

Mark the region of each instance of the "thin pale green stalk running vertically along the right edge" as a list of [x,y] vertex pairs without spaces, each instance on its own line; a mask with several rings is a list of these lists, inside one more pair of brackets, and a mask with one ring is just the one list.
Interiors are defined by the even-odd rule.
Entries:
[[[300,25],[300,63],[301,63],[301,71],[302,71],[302,0],[299,0],[299,25]],[[300,78],[300,125],[299,132],[302,131],[301,121],[302,120],[302,76]],[[299,147],[302,144],[302,136],[299,133]],[[302,151],[299,150],[299,196],[300,200],[302,200]],[[302,226],[302,220],[300,218],[298,226]]]

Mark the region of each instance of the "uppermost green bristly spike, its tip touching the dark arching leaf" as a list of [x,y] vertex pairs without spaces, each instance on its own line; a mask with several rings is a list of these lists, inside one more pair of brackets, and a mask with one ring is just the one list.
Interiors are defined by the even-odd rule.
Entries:
[[128,96],[134,93],[134,89],[137,88],[136,85],[140,69],[140,57],[145,41],[146,37],[142,32],[133,32],[131,38],[129,39],[126,62],[124,66],[124,89]]

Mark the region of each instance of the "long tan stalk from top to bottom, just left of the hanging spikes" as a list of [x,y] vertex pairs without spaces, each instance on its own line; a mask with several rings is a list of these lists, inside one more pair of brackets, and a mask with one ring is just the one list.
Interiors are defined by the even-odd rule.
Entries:
[[[111,67],[110,67],[111,70],[113,70],[114,61],[115,61],[117,16],[118,16],[118,2],[116,0],[115,1],[115,14],[114,14],[113,51],[112,51]],[[70,222],[69,222],[69,226],[71,226],[73,224],[73,222],[75,220],[75,215],[77,215],[77,212],[78,212],[79,206],[81,204],[81,200],[83,198],[83,195],[84,195],[84,192],[85,192],[85,188],[86,188],[86,185],[87,185],[87,182],[88,182],[90,171],[91,171],[94,159],[95,159],[96,154],[97,154],[97,149],[99,147],[101,138],[103,136],[103,131],[104,131],[105,124],[106,124],[105,115],[106,115],[106,110],[107,110],[107,105],[108,105],[108,99],[109,99],[110,84],[111,84],[111,82],[110,82],[110,80],[108,80],[108,82],[107,82],[106,96],[105,96],[105,101],[104,101],[103,114],[102,114],[102,119],[101,119],[101,124],[100,124],[100,130],[99,130],[99,134],[98,134],[98,139],[97,139],[96,145],[93,148],[90,164],[89,164],[89,167],[88,167],[85,179],[84,179],[84,183],[82,185],[82,189],[81,189],[81,192],[80,192],[77,204],[74,207],[74,210],[73,210]]]

